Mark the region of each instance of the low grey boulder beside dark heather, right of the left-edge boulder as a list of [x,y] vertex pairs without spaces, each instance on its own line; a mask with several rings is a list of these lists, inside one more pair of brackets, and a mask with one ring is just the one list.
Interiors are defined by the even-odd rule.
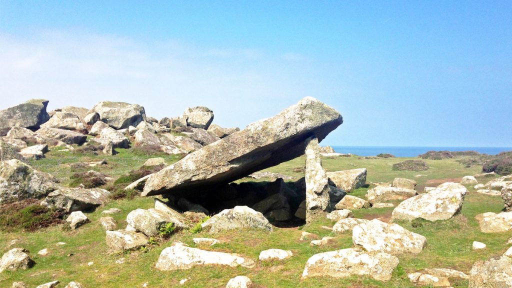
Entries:
[[109,200],[110,192],[100,188],[60,188],[48,194],[41,205],[66,212],[93,210]]

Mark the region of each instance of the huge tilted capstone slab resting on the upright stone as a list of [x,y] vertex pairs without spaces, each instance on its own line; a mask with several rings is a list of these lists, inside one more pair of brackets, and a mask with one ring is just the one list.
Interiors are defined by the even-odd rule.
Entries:
[[148,179],[143,196],[201,192],[303,155],[305,140],[318,140],[342,124],[334,109],[311,97],[185,156]]

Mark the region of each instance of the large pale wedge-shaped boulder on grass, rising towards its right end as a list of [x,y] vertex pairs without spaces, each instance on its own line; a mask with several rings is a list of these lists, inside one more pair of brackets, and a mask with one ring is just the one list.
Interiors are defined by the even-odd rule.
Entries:
[[429,193],[404,200],[393,210],[392,219],[429,221],[447,220],[462,208],[467,189],[459,183],[446,182]]

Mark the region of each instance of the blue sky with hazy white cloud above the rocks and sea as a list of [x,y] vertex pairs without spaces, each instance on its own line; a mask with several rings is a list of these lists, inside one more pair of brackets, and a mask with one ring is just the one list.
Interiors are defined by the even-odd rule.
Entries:
[[305,96],[339,146],[512,146],[511,1],[0,0],[0,109],[133,102],[245,127]]

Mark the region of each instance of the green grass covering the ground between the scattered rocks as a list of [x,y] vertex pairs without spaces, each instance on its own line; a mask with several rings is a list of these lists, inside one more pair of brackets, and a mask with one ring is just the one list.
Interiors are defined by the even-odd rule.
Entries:
[[[47,157],[32,164],[39,170],[57,176],[63,184],[70,182],[69,176],[73,172],[96,170],[111,177],[120,178],[134,169],[138,169],[147,158],[164,157],[167,163],[173,163],[178,158],[162,155],[145,155],[134,153],[133,149],[118,149],[115,156],[83,154],[77,155],[67,151],[51,151]],[[107,159],[108,164],[101,167],[87,168],[80,171],[71,171],[68,164],[77,161],[98,161]],[[346,170],[354,168],[367,168],[367,182],[391,182],[395,177],[415,179],[418,188],[425,186],[435,179],[460,178],[480,172],[480,167],[465,168],[455,159],[425,160],[430,169],[427,171],[393,171],[394,163],[414,158],[386,158],[386,159],[359,159],[357,156],[324,158],[323,165],[328,171]],[[302,177],[296,168],[304,167],[304,157],[282,163],[267,171]],[[295,171],[294,171],[295,170]],[[423,176],[417,176],[423,175]],[[417,177],[416,177],[417,176]],[[247,180],[247,179],[245,179]],[[122,181],[122,180],[119,180]],[[351,193],[358,197],[365,197],[368,188],[360,188]],[[186,287],[225,287],[227,281],[238,275],[246,275],[258,284],[258,287],[412,287],[407,273],[423,268],[453,268],[468,273],[472,264],[477,260],[484,260],[500,255],[509,245],[506,244],[509,233],[481,233],[475,215],[483,212],[500,212],[503,209],[503,200],[498,196],[477,195],[470,188],[465,198],[462,211],[456,217],[437,222],[413,221],[400,222],[403,227],[419,233],[427,238],[427,245],[419,255],[400,255],[400,264],[393,273],[390,282],[383,283],[368,277],[351,277],[345,279],[332,279],[329,277],[308,279],[301,281],[300,277],[304,265],[309,257],[316,253],[353,246],[351,233],[333,234],[322,228],[331,227],[334,221],[324,219],[307,226],[279,229],[274,228],[271,233],[261,231],[231,231],[229,233],[209,234],[200,229],[168,233],[168,239],[148,248],[110,254],[105,243],[105,232],[98,223],[102,217],[101,211],[109,208],[119,208],[122,213],[111,215],[118,221],[118,227],[126,225],[126,215],[137,208],[148,209],[153,207],[152,197],[112,200],[95,212],[88,213],[91,222],[83,225],[76,231],[68,231],[61,227],[50,227],[34,233],[23,231],[0,232],[0,253],[9,250],[7,244],[12,239],[19,239],[16,246],[28,249],[36,264],[27,271],[4,272],[0,274],[0,286],[9,287],[13,281],[25,281],[28,286],[36,286],[58,279],[62,287],[69,281],[78,281],[86,287],[141,287],[148,283],[149,287],[179,286],[181,279],[190,277]],[[393,208],[362,209],[353,211],[354,217],[377,218],[389,217]],[[332,243],[317,247],[309,246],[309,241],[299,241],[302,231],[315,233],[320,237],[335,236]],[[200,246],[202,249],[239,253],[245,257],[257,260],[262,250],[280,248],[291,250],[293,257],[278,262],[257,264],[252,269],[226,268],[222,266],[196,267],[186,271],[161,272],[155,269],[160,252],[173,241],[179,240],[192,247],[198,247],[193,241],[194,237],[214,237],[225,240],[226,243],[215,246]],[[473,241],[487,244],[487,248],[472,251]],[[57,246],[57,242],[66,242],[66,245]],[[41,249],[48,248],[50,255],[37,256]],[[121,257],[125,263],[116,264]],[[87,263],[93,261],[89,266]],[[452,282],[454,287],[467,287],[467,281]]]

